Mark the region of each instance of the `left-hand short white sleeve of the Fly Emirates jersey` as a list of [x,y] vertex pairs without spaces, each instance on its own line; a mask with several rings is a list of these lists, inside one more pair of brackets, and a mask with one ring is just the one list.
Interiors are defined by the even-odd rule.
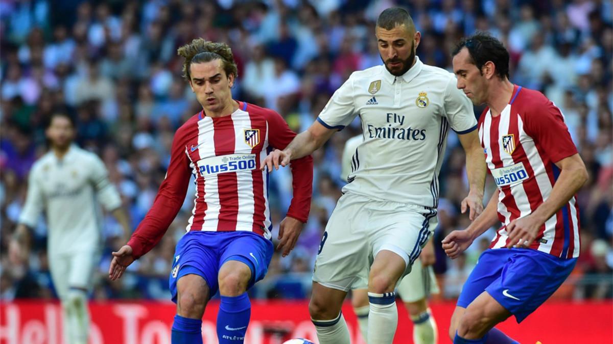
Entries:
[[351,77],[337,89],[332,98],[319,113],[317,121],[328,129],[342,130],[356,118],[353,101],[353,80]]

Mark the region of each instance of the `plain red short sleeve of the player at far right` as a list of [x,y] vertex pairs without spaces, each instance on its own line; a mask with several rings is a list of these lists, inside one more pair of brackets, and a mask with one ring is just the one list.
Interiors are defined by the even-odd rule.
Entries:
[[549,100],[530,107],[530,114],[524,116],[524,130],[554,163],[577,154],[562,112]]

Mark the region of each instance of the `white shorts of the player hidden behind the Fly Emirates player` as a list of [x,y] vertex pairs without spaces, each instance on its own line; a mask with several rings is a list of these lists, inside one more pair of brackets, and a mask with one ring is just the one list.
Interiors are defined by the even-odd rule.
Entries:
[[402,302],[416,302],[430,294],[440,293],[434,269],[432,266],[423,267],[419,258],[413,264],[411,273],[400,280],[396,290]]

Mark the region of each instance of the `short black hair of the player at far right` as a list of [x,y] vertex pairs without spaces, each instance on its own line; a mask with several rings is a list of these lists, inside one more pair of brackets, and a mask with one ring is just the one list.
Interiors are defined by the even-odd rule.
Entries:
[[473,36],[464,37],[455,46],[451,56],[460,53],[466,47],[470,55],[471,62],[477,66],[479,73],[481,68],[488,61],[492,61],[495,73],[499,78],[509,78],[509,51],[504,48],[500,40],[496,39],[487,32],[477,32]]

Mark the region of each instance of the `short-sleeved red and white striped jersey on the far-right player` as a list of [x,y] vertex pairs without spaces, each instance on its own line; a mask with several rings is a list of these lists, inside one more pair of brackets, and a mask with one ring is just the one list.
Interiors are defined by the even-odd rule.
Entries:
[[[555,165],[577,153],[560,110],[541,92],[515,86],[499,116],[486,108],[479,119],[485,162],[500,195],[498,219],[504,225],[490,247],[505,247],[506,226],[530,215],[547,200],[560,169]],[[579,207],[573,196],[541,227],[531,249],[560,258],[579,256]]]

